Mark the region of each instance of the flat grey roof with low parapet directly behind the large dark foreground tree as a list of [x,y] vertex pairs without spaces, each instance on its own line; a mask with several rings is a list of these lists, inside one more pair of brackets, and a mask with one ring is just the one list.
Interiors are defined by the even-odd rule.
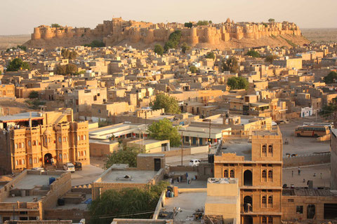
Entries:
[[[107,174],[103,174],[102,183],[147,183],[157,171],[149,170],[114,170]],[[124,179],[124,176],[131,176],[132,180]]]

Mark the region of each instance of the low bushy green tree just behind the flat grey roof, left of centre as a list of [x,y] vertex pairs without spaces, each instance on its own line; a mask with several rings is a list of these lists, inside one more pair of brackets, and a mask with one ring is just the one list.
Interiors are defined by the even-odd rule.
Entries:
[[105,168],[108,169],[114,164],[128,164],[129,167],[137,167],[137,155],[140,149],[136,147],[123,147],[119,151],[114,151],[107,155]]

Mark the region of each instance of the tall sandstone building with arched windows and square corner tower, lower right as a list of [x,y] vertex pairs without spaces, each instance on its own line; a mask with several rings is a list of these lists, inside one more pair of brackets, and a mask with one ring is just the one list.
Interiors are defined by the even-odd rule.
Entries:
[[278,127],[253,132],[251,143],[223,146],[225,153],[214,156],[214,176],[238,179],[241,223],[281,223],[282,134]]

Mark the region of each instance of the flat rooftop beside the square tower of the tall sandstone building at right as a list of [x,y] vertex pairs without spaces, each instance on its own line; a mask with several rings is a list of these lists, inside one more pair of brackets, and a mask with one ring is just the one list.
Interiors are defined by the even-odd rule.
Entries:
[[223,143],[220,153],[235,153],[244,156],[245,161],[251,160],[251,143],[248,141],[226,141]]

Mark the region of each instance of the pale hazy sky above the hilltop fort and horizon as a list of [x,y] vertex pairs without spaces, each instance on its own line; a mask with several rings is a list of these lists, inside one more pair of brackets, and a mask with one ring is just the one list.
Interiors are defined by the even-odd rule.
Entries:
[[58,23],[94,28],[103,20],[147,22],[296,22],[300,28],[337,27],[337,0],[0,0],[0,35],[30,34]]

